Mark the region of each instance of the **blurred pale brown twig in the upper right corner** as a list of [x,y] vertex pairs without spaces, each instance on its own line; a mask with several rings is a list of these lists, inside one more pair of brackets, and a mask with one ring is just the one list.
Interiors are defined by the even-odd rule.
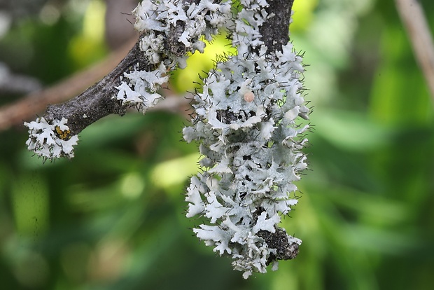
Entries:
[[434,43],[423,8],[417,0],[395,0],[395,4],[434,102]]

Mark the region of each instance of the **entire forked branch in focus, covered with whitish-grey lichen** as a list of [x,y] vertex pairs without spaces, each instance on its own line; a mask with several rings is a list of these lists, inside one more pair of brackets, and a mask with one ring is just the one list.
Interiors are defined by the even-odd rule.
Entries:
[[72,157],[77,134],[127,106],[145,113],[162,96],[160,86],[186,55],[204,50],[225,29],[237,55],[220,57],[194,95],[186,141],[200,144],[202,172],[187,188],[193,231],[220,255],[231,256],[247,278],[271,263],[295,258],[302,243],[279,226],[297,204],[302,148],[309,124],[302,56],[288,43],[293,1],[142,1],[134,13],[141,37],[102,81],[64,104],[49,106],[27,123],[27,145],[43,158]]

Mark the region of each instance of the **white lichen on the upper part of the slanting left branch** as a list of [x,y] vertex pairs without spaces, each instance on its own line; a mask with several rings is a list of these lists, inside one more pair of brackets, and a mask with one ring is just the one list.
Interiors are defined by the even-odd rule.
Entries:
[[[149,64],[155,64],[151,71],[137,69],[123,75],[122,83],[116,87],[116,99],[127,106],[137,107],[143,113],[158,103],[162,83],[168,81],[168,73],[176,66],[186,67],[186,53],[196,50],[203,53],[205,43],[201,36],[211,40],[228,18],[230,3],[216,4],[216,1],[200,1],[188,4],[186,1],[145,0],[134,9],[134,27],[141,32],[140,48]],[[174,43],[167,41],[179,34]],[[168,48],[167,46],[172,46]],[[176,49],[180,49],[177,53]]]

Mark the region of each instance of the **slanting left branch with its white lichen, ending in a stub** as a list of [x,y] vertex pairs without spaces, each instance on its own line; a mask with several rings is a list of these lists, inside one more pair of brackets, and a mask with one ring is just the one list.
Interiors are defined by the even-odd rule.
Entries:
[[118,67],[82,94],[48,106],[29,127],[27,146],[44,159],[73,157],[78,133],[127,106],[142,113],[158,103],[170,71],[185,67],[187,53],[203,52],[201,37],[211,40],[230,18],[230,3],[218,1],[142,1],[134,9],[139,41]]

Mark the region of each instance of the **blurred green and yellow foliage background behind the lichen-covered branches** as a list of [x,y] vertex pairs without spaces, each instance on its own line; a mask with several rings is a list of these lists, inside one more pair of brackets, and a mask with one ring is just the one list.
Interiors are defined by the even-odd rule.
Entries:
[[[419,2],[434,31],[434,2]],[[434,96],[394,1],[295,0],[314,130],[302,198],[283,220],[303,244],[276,272],[244,280],[193,236],[183,193],[199,155],[180,141],[184,109],[109,116],[80,134],[72,160],[32,157],[22,121],[84,90],[79,71],[116,65],[137,37],[136,4],[0,0],[4,289],[433,289]],[[169,93],[194,90],[225,44],[193,55]]]

